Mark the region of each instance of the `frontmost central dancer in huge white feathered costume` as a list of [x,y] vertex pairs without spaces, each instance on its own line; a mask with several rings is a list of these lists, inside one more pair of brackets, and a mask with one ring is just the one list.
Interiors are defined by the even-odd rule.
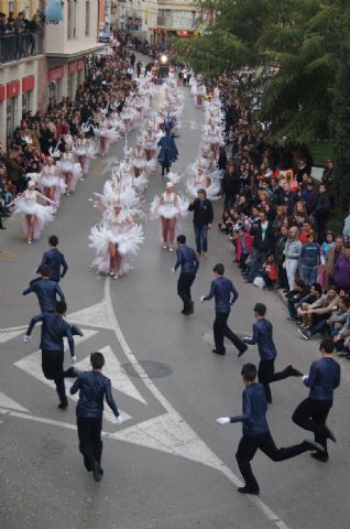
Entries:
[[142,226],[133,224],[130,212],[114,204],[103,212],[102,222],[91,228],[89,240],[97,253],[92,268],[118,279],[131,270],[128,258],[138,253],[144,236]]

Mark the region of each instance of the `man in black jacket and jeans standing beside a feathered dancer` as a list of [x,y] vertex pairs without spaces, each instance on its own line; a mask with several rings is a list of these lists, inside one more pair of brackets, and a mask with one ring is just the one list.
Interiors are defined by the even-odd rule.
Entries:
[[208,257],[208,229],[214,219],[212,205],[205,190],[197,191],[197,198],[188,206],[194,212],[194,228],[198,256]]

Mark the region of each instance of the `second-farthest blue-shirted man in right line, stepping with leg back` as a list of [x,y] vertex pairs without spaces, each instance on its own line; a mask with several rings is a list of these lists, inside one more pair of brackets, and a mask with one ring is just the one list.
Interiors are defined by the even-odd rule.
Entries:
[[231,306],[238,299],[238,292],[233,287],[232,281],[223,277],[225,267],[221,262],[218,262],[214,267],[212,273],[215,280],[211,281],[210,292],[200,298],[201,302],[215,298],[216,317],[212,325],[215,349],[211,349],[211,352],[217,355],[226,355],[226,348],[223,345],[223,337],[226,336],[242,355],[248,349],[248,346],[234,333],[232,333],[227,324]]

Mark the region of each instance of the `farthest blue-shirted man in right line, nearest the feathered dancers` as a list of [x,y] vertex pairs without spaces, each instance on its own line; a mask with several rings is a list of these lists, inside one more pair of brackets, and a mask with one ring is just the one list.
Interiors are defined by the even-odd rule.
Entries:
[[184,235],[179,235],[176,241],[176,263],[173,268],[173,272],[175,273],[177,268],[181,267],[182,270],[177,281],[177,295],[184,302],[182,314],[186,314],[186,316],[188,316],[189,314],[194,313],[194,302],[190,296],[190,287],[196,279],[199,261],[195,251],[186,246],[186,237]]

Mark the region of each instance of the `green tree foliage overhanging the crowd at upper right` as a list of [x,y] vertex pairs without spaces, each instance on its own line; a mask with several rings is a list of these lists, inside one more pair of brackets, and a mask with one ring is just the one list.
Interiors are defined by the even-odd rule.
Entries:
[[349,0],[197,0],[197,4],[203,11],[215,10],[216,26],[209,34],[178,42],[182,58],[210,78],[243,66],[259,72],[253,94],[260,99],[259,118],[276,139],[335,139],[342,186],[346,172],[350,179],[350,165],[339,170],[340,161],[342,165],[350,161]]

